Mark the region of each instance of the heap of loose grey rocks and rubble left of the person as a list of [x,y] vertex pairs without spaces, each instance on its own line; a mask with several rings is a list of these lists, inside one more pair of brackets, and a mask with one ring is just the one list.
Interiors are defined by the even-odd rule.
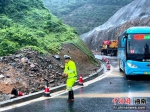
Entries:
[[63,69],[60,66],[62,65],[59,61],[53,57],[43,57],[36,51],[25,49],[1,58],[0,72],[5,78],[0,80],[0,83],[14,85],[18,90],[26,93],[40,91],[45,87],[44,79],[47,79],[49,84],[65,82],[61,77]]

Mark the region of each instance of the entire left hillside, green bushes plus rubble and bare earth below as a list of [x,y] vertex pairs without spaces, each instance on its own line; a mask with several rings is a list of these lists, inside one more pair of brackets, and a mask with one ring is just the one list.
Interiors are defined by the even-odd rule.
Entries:
[[75,30],[52,15],[42,0],[0,1],[0,94],[13,87],[27,94],[43,90],[44,79],[50,87],[64,84],[64,54],[83,76],[99,66]]

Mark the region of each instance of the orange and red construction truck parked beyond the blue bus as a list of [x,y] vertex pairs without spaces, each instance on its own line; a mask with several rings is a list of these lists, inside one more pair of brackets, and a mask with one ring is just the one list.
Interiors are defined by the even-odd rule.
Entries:
[[103,40],[101,54],[117,56],[118,40]]

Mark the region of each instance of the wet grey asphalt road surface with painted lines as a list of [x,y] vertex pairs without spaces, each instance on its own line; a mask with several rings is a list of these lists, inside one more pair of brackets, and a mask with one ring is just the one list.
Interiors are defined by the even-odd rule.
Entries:
[[[110,71],[84,83],[84,87],[74,87],[73,103],[66,102],[64,90],[51,98],[14,105],[5,112],[150,112],[149,80],[127,81],[119,72],[116,59],[112,58],[110,62]],[[135,104],[143,100],[146,102]]]

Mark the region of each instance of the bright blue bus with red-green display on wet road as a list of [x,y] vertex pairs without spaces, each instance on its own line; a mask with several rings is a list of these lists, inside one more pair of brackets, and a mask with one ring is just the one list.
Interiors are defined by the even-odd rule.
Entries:
[[130,75],[150,75],[150,27],[130,27],[118,37],[119,70]]

